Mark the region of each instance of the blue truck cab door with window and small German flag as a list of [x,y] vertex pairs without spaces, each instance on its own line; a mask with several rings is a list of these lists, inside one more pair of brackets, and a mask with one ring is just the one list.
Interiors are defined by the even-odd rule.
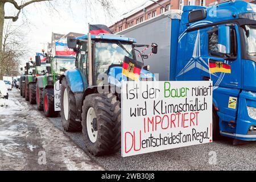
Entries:
[[[218,26],[209,28],[207,38],[207,56],[209,73],[202,72],[202,80],[213,81],[213,102],[219,112],[228,114],[236,120],[238,97],[241,89],[241,48],[237,24],[230,24],[230,53],[220,53],[218,46]],[[236,102],[236,105],[231,102]]]

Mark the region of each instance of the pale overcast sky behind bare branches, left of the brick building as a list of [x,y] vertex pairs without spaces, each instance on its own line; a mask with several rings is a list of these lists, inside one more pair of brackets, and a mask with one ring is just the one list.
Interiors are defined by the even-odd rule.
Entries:
[[[146,1],[112,0],[115,7],[113,18],[107,16],[99,4],[93,5],[90,9],[85,5],[85,0],[72,0],[71,6],[69,6],[69,1],[53,0],[56,10],[49,9],[45,2],[29,5],[23,10],[23,14],[20,14],[19,20],[13,23],[14,26],[20,26],[23,22],[27,22],[20,28],[20,31],[26,35],[24,41],[27,42],[26,45],[31,51],[24,53],[24,60],[20,61],[25,63],[29,57],[35,56],[35,52],[41,52],[42,48],[47,49],[46,43],[51,41],[52,32],[87,34],[88,23],[110,26],[117,22],[123,13],[142,5]],[[96,1],[92,0],[90,2]],[[13,5],[6,3],[5,14],[14,15],[15,13],[16,10]]]

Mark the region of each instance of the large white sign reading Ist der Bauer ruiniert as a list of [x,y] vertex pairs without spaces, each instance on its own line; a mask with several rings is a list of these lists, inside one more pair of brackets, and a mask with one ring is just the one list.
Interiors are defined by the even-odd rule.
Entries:
[[212,81],[122,83],[122,156],[212,142]]

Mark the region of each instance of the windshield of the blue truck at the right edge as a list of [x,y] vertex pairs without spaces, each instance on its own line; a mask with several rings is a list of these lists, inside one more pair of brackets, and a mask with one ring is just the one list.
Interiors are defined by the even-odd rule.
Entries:
[[245,35],[247,55],[256,56],[256,26],[243,26],[243,34]]

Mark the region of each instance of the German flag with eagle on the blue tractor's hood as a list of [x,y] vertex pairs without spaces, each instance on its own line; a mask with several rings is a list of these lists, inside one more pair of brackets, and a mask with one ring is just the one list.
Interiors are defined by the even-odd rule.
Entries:
[[138,81],[139,75],[141,75],[142,66],[143,63],[125,56],[125,59],[123,60],[122,75],[126,76],[128,81]]

